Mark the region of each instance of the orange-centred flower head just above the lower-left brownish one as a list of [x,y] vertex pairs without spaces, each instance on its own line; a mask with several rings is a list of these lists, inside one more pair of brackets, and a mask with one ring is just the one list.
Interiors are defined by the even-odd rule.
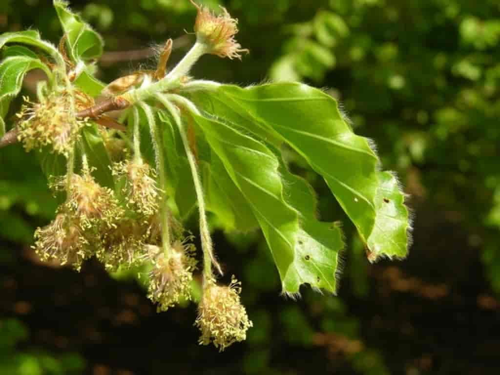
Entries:
[[[66,177],[57,179],[51,186],[56,190],[64,190]],[[84,170],[81,175],[71,176],[67,194],[67,209],[78,218],[83,228],[101,223],[113,227],[123,214],[114,192],[99,185],[88,170]]]

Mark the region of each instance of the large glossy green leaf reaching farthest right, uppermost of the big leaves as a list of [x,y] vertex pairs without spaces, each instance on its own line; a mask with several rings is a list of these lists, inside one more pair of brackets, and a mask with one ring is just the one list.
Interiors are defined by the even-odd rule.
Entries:
[[280,138],[295,149],[323,176],[368,246],[370,260],[407,254],[404,194],[392,174],[378,170],[368,140],[352,132],[332,97],[305,84],[275,83],[221,85],[196,91],[191,99],[261,139]]

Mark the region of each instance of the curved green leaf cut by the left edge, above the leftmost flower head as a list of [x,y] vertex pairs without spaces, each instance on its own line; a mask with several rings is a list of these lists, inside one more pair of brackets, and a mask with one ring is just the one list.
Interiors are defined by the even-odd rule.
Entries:
[[5,133],[3,118],[8,112],[12,98],[17,96],[24,75],[31,69],[42,69],[49,80],[52,73],[39,59],[28,56],[9,56],[0,63],[0,136]]

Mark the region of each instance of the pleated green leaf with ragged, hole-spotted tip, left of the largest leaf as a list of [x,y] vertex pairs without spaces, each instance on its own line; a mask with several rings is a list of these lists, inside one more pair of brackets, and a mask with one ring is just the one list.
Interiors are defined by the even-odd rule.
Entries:
[[[303,283],[334,292],[341,241],[331,238],[336,234],[340,240],[339,231],[326,232],[321,223],[309,223],[305,216],[306,222],[301,224],[302,217],[284,198],[279,161],[266,145],[227,122],[193,116],[253,211],[278,268],[283,292],[296,293]],[[340,248],[330,247],[337,245]]]

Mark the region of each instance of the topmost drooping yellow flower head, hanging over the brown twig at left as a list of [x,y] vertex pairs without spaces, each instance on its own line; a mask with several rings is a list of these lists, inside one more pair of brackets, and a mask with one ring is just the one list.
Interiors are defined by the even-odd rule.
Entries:
[[84,120],[74,116],[68,92],[52,92],[39,103],[24,98],[25,104],[17,116],[21,119],[18,139],[29,151],[51,145],[57,153],[68,155],[72,150]]

